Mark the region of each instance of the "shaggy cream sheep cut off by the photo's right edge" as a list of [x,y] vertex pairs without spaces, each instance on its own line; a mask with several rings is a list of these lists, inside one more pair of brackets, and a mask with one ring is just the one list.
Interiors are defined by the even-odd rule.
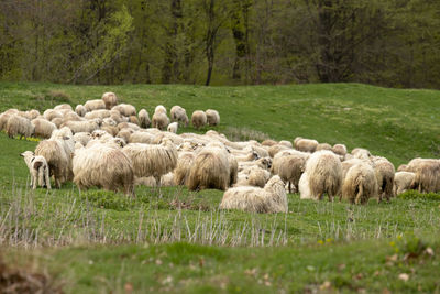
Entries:
[[418,192],[440,190],[440,160],[414,159],[408,163],[407,172],[416,174],[414,187]]

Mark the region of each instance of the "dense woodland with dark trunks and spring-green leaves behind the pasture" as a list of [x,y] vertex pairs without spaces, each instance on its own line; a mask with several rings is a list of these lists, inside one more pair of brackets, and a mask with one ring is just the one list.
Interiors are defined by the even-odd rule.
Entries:
[[0,79],[440,87],[440,2],[3,0]]

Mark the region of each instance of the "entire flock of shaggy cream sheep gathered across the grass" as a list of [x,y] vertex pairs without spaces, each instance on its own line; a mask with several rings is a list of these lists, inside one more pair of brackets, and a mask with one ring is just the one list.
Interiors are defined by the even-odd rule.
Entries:
[[[170,122],[172,121],[172,122]],[[216,110],[196,110],[191,123],[217,126]],[[31,185],[51,188],[73,181],[82,190],[97,186],[134,196],[135,185],[177,186],[190,190],[226,190],[221,209],[256,213],[287,211],[287,192],[301,199],[328,196],[365,204],[380,202],[407,189],[440,190],[440,160],[415,159],[395,172],[385,157],[366,149],[348,152],[316,140],[254,140],[232,142],[209,130],[205,134],[176,134],[188,126],[186,110],[157,106],[148,112],[118,104],[113,92],[89,100],[75,110],[59,105],[41,115],[37,110],[9,109],[0,115],[0,129],[9,137],[41,137],[35,152],[21,155],[31,173]],[[153,128],[148,128],[152,124]],[[167,131],[164,131],[164,130]]]

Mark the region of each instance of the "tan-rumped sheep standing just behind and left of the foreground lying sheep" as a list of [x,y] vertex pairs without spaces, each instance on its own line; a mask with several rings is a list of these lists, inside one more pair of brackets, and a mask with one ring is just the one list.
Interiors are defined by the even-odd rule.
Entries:
[[231,182],[228,151],[217,143],[208,144],[195,157],[187,179],[188,189],[226,190]]

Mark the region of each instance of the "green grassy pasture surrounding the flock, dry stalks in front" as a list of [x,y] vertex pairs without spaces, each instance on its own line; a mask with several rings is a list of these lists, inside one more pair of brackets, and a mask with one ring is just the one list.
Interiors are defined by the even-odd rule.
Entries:
[[[108,90],[150,116],[158,104],[188,116],[217,109],[215,129],[231,140],[301,135],[367,148],[396,167],[440,153],[433,90],[0,83],[0,111],[75,106]],[[220,190],[136,187],[135,199],[73,184],[32,190],[19,154],[36,144],[0,133],[2,260],[46,272],[66,293],[440,292],[438,194],[366,206],[290,194],[288,214],[254,215],[219,211]]]

